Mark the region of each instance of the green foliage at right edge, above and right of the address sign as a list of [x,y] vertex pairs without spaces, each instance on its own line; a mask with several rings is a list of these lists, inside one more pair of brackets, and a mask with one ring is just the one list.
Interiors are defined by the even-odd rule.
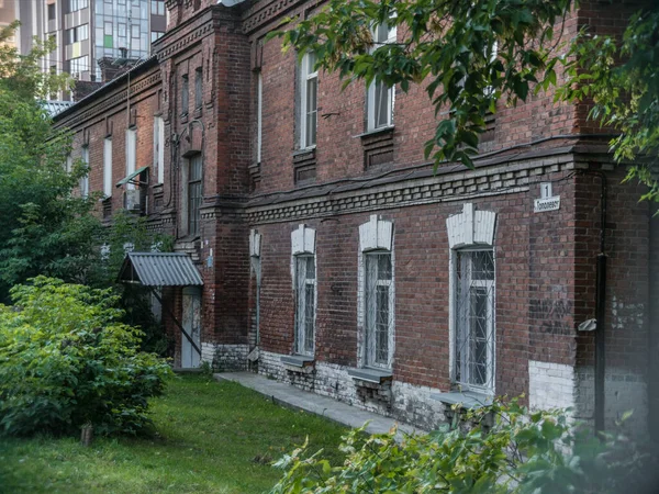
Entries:
[[626,180],[659,202],[659,10],[636,12],[621,40],[582,33],[569,60],[559,96],[592,101],[590,116],[621,133],[611,141],[615,159],[636,161]]

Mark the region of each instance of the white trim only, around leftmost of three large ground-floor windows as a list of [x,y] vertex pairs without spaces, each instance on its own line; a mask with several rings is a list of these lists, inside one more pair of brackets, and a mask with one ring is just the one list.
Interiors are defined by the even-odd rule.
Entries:
[[[260,242],[259,242],[260,245]],[[259,247],[260,248],[260,247]],[[291,281],[293,288],[293,295],[297,292],[298,288],[298,258],[299,257],[312,257],[314,262],[314,272],[315,277],[313,279],[313,351],[310,353],[304,352],[304,336],[303,330],[300,332],[300,326],[298,324],[298,300],[293,297],[294,302],[294,311],[295,311],[295,323],[293,328],[293,337],[294,337],[294,351],[298,355],[313,357],[315,352],[315,336],[316,336],[316,315],[317,315],[317,303],[319,303],[319,290],[317,290],[317,279],[319,279],[319,269],[317,269],[317,260],[315,255],[315,229],[306,227],[306,225],[301,224],[297,229],[291,232]],[[302,337],[300,334],[302,333]]]

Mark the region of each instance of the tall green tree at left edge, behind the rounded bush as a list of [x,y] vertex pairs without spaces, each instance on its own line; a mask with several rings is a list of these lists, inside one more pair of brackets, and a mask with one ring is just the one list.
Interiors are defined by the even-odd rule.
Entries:
[[38,60],[54,42],[35,41],[20,56],[0,31],[0,301],[9,288],[37,274],[86,282],[98,266],[100,222],[90,214],[94,197],[72,191],[87,175],[66,131],[53,131],[38,98],[67,87],[66,76],[43,74]]

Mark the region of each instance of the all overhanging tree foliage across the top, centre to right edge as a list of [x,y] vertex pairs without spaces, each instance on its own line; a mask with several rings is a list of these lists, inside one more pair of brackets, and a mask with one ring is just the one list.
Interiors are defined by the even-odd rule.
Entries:
[[[284,49],[292,47],[300,56],[315,52],[316,68],[338,72],[345,86],[380,80],[400,85],[406,92],[411,85],[423,82],[435,113],[443,115],[425,146],[435,166],[449,160],[473,167],[471,157],[478,153],[484,117],[496,110],[496,101],[504,98],[514,104],[527,100],[532,90],[556,86],[562,64],[568,78],[559,97],[594,99],[591,116],[622,133],[611,143],[616,159],[644,155],[656,161],[657,12],[636,14],[622,43],[585,34],[571,40],[570,58],[558,48],[573,3],[330,0],[310,19],[289,19],[272,35],[282,36]],[[398,42],[375,45],[371,30],[384,23],[398,27]],[[621,57],[627,61],[618,65]],[[650,186],[646,198],[659,199],[647,167],[632,168],[630,177]]]

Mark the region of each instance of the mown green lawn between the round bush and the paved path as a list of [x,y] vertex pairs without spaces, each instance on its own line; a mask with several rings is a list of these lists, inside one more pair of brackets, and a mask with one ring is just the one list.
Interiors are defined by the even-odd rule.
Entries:
[[[281,475],[270,463],[304,442],[339,460],[345,428],[283,408],[232,382],[172,379],[153,401],[150,438],[0,439],[2,493],[259,493]],[[339,460],[340,461],[340,460]]]

